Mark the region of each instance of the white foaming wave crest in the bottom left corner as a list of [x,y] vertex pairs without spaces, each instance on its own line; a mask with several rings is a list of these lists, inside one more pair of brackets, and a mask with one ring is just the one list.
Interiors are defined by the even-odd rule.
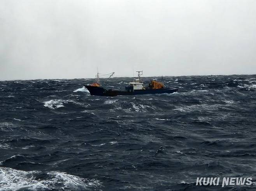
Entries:
[[90,190],[101,187],[102,184],[96,179],[84,179],[65,172],[47,172],[47,179],[36,178],[39,171],[22,171],[0,167],[0,191],[16,190]]

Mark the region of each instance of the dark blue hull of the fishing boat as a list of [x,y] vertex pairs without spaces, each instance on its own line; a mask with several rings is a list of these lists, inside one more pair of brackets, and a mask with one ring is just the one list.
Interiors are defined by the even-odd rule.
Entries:
[[162,94],[162,93],[174,93],[178,89],[162,88],[162,89],[135,89],[133,91],[121,91],[104,89],[102,87],[85,85],[91,95],[97,96],[118,96],[118,95],[144,95],[144,94]]

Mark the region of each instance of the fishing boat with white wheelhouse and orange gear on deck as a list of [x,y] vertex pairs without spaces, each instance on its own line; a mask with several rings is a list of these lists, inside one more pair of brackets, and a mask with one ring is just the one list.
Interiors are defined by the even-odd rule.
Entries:
[[143,94],[163,94],[174,93],[178,89],[166,88],[163,83],[151,80],[148,86],[144,86],[141,79],[143,71],[137,71],[138,77],[125,87],[125,90],[105,89],[100,84],[99,73],[96,75],[95,83],[85,85],[91,95],[96,96],[118,96],[118,95],[143,95]]

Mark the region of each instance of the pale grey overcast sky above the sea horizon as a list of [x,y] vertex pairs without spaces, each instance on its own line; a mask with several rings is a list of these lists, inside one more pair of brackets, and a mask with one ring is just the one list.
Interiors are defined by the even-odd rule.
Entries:
[[255,0],[0,0],[0,80],[256,74]]

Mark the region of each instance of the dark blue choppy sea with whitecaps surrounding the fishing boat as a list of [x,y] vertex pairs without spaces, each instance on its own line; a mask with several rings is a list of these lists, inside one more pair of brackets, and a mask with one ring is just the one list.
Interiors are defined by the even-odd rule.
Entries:
[[256,75],[163,80],[179,91],[101,97],[83,87],[93,79],[1,81],[0,191],[256,190]]

